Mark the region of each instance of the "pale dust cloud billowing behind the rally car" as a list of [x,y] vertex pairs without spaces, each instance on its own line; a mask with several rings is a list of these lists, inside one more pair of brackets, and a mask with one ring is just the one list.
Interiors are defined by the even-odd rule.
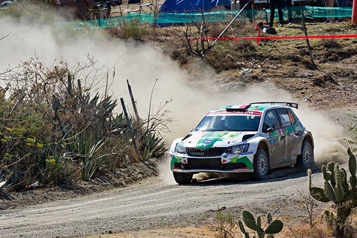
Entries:
[[[115,68],[111,90],[114,96],[124,97],[127,104],[130,100],[126,80],[130,81],[142,116],[147,115],[151,89],[158,79],[152,98],[154,110],[160,103],[172,99],[167,109],[175,121],[170,124],[172,132],[165,135],[168,143],[174,138],[187,135],[189,129],[215,107],[261,100],[299,102],[287,91],[269,83],[238,89],[227,86],[222,90],[218,75],[207,65],[197,61],[199,67],[195,70],[200,70],[198,80],[165,56],[155,45],[124,42],[109,37],[104,31],[63,31],[54,25],[29,24],[11,18],[0,19],[0,25],[0,36],[11,33],[0,41],[0,72],[9,68],[9,65],[16,66],[34,57],[50,67],[62,59],[71,65],[92,55],[97,60],[98,67],[106,65]],[[328,161],[331,151],[337,152],[342,147],[343,128],[307,105],[295,112],[313,133],[315,161]],[[165,163],[162,163],[166,168],[162,177],[172,183],[169,162],[166,160]],[[161,171],[165,171],[164,167]]]

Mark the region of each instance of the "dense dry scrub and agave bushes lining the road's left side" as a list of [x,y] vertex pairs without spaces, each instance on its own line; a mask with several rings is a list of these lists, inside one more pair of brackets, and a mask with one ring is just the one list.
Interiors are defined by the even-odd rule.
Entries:
[[[101,69],[92,58],[52,68],[33,59],[0,74],[6,83],[0,87],[0,182],[7,188],[88,181],[104,167],[124,166],[119,158],[137,162],[126,119],[114,114],[117,100],[97,90],[106,84],[97,77]],[[160,131],[170,118],[160,110],[130,119],[145,159],[166,151]]]

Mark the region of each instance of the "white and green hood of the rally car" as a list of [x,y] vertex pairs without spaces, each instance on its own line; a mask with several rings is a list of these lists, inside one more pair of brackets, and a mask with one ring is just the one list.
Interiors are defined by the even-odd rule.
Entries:
[[255,135],[257,131],[192,131],[181,142],[185,147],[209,149],[228,147],[242,142],[243,136]]

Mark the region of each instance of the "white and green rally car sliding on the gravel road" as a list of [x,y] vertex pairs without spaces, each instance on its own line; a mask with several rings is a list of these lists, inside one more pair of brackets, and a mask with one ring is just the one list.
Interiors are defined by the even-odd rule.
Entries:
[[292,102],[232,104],[210,111],[170,148],[171,171],[179,184],[199,172],[250,173],[314,163],[314,140],[291,108]]

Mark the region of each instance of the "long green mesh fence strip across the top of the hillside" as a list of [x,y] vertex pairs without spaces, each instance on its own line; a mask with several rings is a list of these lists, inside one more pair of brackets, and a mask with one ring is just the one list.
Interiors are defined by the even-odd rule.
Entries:
[[[292,18],[305,17],[351,17],[352,8],[326,8],[326,7],[291,7]],[[205,21],[230,21],[239,11],[212,11],[204,12],[203,16]],[[270,18],[269,9],[253,10],[253,18],[256,20],[267,20]],[[284,17],[288,16],[288,8],[284,9]],[[275,18],[277,19],[277,11],[275,11]],[[238,20],[247,20],[247,14],[241,14]],[[61,25],[67,25],[74,29],[83,28],[117,28],[123,21],[137,21],[140,23],[157,23],[159,25],[166,24],[182,24],[188,22],[201,22],[202,13],[131,13],[125,16],[111,17],[101,20],[89,20],[89,21],[69,21],[60,23]]]

